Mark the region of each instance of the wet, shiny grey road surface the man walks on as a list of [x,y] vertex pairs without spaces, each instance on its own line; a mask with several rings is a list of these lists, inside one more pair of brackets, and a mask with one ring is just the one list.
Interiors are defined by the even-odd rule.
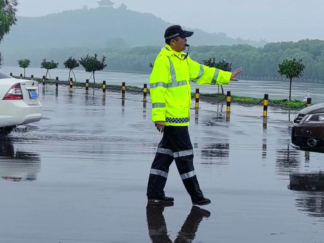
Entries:
[[[318,172],[324,155],[289,147],[289,114],[201,102],[190,134],[201,189],[192,207],[170,167],[171,207],[147,207],[161,133],[142,95],[84,90],[41,96],[44,118],[0,145],[0,242],[322,242],[324,194],[287,188],[289,172]],[[295,113],[290,114],[293,120]]]

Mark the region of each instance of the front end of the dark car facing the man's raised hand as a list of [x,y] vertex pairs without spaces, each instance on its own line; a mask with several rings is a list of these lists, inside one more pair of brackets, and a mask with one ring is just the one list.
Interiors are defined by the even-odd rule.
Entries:
[[292,124],[291,146],[324,153],[324,103],[300,110]]

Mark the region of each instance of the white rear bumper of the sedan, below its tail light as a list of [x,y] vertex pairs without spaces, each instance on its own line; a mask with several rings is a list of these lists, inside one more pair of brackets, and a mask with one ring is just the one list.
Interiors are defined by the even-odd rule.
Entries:
[[0,127],[40,121],[42,104],[27,105],[23,100],[0,100]]

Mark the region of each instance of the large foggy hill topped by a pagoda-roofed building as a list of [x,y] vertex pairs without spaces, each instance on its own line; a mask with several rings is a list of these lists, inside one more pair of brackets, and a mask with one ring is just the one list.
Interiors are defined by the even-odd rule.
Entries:
[[[92,8],[63,11],[42,17],[18,17],[17,25],[5,37],[1,49],[56,47],[136,47],[163,45],[164,31],[170,23],[148,13],[120,8]],[[199,29],[189,43],[198,45],[250,44],[264,46],[266,41],[233,39],[225,33],[209,34]]]

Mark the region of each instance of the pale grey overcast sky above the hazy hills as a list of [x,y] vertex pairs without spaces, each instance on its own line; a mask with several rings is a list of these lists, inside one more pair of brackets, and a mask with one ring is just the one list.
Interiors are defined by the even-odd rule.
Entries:
[[[20,16],[97,7],[98,0],[18,0]],[[323,0],[112,0],[167,22],[229,37],[267,41],[324,40]],[[145,28],[145,26],[143,26]]]

